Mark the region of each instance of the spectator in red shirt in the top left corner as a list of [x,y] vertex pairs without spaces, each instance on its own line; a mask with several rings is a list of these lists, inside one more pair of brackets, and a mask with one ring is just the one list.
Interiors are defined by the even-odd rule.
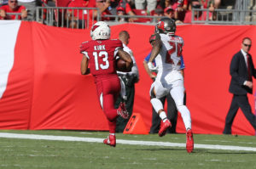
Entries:
[[[20,13],[6,14],[6,13]],[[0,8],[0,20],[23,20],[26,19],[27,12],[24,6],[19,6],[17,0],[9,0],[8,5],[3,5]]]

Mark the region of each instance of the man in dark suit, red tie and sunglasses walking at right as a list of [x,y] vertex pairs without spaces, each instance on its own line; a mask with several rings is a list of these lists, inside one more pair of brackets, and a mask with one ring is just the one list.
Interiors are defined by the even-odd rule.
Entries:
[[233,99],[226,116],[224,134],[231,134],[231,126],[239,108],[241,108],[242,113],[256,130],[256,117],[253,115],[247,99],[247,93],[253,93],[252,77],[256,77],[252,56],[248,54],[251,46],[252,40],[249,37],[243,38],[241,50],[231,60],[230,93],[233,93]]

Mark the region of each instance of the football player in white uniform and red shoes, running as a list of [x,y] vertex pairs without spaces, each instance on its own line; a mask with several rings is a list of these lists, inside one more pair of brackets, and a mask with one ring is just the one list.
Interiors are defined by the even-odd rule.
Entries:
[[[164,136],[167,128],[171,127],[172,124],[166,117],[166,112],[163,108],[163,104],[160,102],[160,98],[171,93],[177,110],[181,113],[183,118],[187,136],[186,149],[191,153],[194,149],[191,117],[189,109],[183,104],[183,75],[179,71],[183,51],[183,38],[175,35],[175,31],[175,21],[170,18],[161,19],[155,26],[155,32],[158,33],[158,36],[156,36],[148,61],[148,69],[151,71],[157,69],[158,74],[150,88],[150,102],[163,121],[159,136]],[[158,67],[154,67],[152,63],[153,60],[155,60]]]

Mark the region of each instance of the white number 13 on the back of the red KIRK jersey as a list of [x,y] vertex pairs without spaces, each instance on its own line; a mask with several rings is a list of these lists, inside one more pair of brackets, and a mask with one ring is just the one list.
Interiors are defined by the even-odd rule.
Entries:
[[[109,61],[108,61],[108,52],[107,51],[100,51],[100,52],[93,52],[95,61],[95,69],[99,70],[107,70],[109,68]],[[102,60],[102,64],[99,64],[99,59]]]

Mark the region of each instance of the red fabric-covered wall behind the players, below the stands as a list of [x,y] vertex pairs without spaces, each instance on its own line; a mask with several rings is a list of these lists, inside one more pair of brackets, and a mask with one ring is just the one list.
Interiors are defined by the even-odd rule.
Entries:
[[[134,112],[143,115],[149,131],[151,80],[143,69],[143,59],[150,51],[148,37],[154,26],[114,25],[111,30],[112,38],[117,38],[122,30],[131,35],[128,46],[133,50],[140,73]],[[230,59],[241,48],[242,37],[251,37],[256,42],[254,32],[255,25],[177,26],[177,35],[183,37],[185,44],[185,88],[195,133],[222,133],[232,97],[228,92]],[[0,99],[0,128],[108,130],[92,76],[79,73],[82,59],[79,44],[88,40],[88,30],[22,22],[15,46],[15,63]],[[256,56],[254,48],[251,54]],[[253,95],[249,100],[254,111]],[[253,127],[241,111],[232,129],[237,134],[254,135]],[[184,132],[180,115],[177,132]]]

